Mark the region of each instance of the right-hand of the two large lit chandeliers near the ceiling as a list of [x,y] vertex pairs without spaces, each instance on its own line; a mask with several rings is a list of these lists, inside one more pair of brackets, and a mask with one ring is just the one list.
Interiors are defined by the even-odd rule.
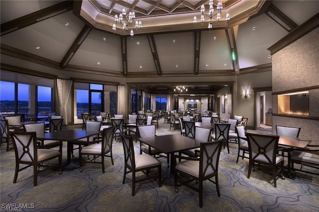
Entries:
[[[200,21],[203,24],[205,21],[209,20],[208,29],[210,31],[210,29],[213,27],[212,20],[217,20],[219,22],[219,19],[221,18],[221,10],[223,9],[223,4],[222,4],[222,2],[218,2],[217,7],[216,7],[217,10],[215,11],[215,14],[214,14],[213,0],[209,0],[208,4],[209,4],[209,9],[207,11],[208,14],[205,13],[204,4],[202,4],[200,7],[200,12],[201,12]],[[216,16],[216,18],[215,18],[215,16]],[[226,13],[225,19],[226,19],[226,21],[228,21],[230,19],[229,13]],[[196,22],[197,22],[197,18],[196,18],[196,16],[194,16],[193,23],[195,24]]]

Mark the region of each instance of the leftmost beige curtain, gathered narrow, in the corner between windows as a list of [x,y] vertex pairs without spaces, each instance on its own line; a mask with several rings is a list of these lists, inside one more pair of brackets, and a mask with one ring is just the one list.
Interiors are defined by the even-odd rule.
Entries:
[[66,105],[68,103],[68,99],[70,96],[71,88],[72,88],[72,80],[56,80],[58,99],[60,105],[60,115],[63,115],[63,124],[68,124],[68,115]]

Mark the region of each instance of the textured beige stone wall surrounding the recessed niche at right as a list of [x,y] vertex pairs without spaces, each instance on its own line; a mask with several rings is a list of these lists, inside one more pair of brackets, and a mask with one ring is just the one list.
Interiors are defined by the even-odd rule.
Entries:
[[[273,92],[319,85],[319,28],[272,55]],[[273,113],[278,113],[278,98],[273,95]],[[309,116],[319,117],[319,89],[309,91]],[[319,144],[319,120],[273,116],[276,125],[302,127],[299,137]]]

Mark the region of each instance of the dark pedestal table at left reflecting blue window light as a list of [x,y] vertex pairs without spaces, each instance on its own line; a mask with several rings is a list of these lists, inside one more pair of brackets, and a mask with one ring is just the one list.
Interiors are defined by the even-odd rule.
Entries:
[[76,141],[82,138],[90,137],[99,134],[100,131],[87,131],[87,130],[76,130],[66,129],[57,132],[43,133],[37,135],[38,140],[56,140],[67,142],[67,162],[63,165],[63,171],[74,170],[79,168],[78,164],[75,164],[71,160],[71,145],[76,144]]

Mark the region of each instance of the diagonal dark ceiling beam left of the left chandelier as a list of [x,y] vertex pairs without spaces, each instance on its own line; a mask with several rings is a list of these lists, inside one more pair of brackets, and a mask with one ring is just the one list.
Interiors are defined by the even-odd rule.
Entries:
[[76,51],[80,48],[81,44],[83,43],[83,41],[85,40],[86,36],[89,34],[90,31],[91,31],[91,28],[88,25],[85,25],[82,28],[81,32],[76,37],[73,44],[71,45],[71,47],[69,48],[67,53],[64,55],[64,57],[60,63],[61,69],[64,69],[68,65],[71,58],[74,56]]

